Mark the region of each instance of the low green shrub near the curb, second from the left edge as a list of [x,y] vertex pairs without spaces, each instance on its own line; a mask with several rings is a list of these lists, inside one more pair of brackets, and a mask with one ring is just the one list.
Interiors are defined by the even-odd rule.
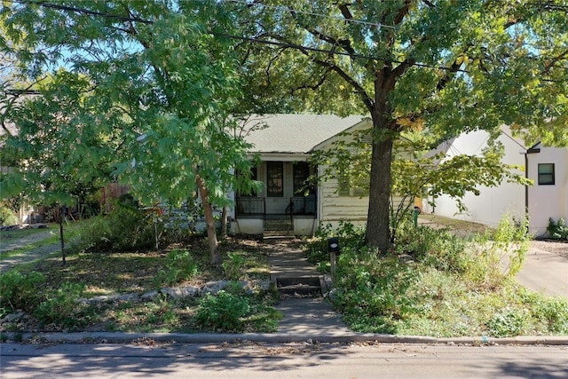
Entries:
[[78,300],[83,296],[84,286],[75,283],[63,283],[61,288],[45,294],[45,300],[40,303],[34,314],[43,323],[63,324],[73,326],[77,323],[77,313],[81,312]]

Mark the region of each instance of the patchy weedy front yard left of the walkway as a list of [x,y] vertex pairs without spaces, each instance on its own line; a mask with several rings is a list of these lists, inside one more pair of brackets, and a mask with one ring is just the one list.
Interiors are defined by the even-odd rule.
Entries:
[[[75,226],[75,225],[74,225]],[[81,230],[82,225],[77,225]],[[152,301],[123,301],[85,303],[79,297],[114,295],[135,292],[139,294],[155,289],[158,284],[178,285],[185,280],[193,284],[209,280],[225,279],[225,274],[209,266],[206,243],[193,238],[185,245],[175,245],[168,252],[138,251],[92,253],[70,251],[67,265],[61,267],[55,257],[45,258],[28,265],[35,273],[9,272],[0,277],[3,287],[0,317],[12,312],[6,294],[28,298],[25,317],[16,322],[4,322],[0,332],[7,329],[18,331],[61,330],[112,330],[123,332],[182,332],[194,333],[200,328],[195,316],[200,298],[172,299],[157,296]],[[242,276],[265,278],[268,272],[268,257],[252,241],[229,239],[221,246],[228,256],[244,259],[244,264],[233,265],[234,272]],[[231,262],[227,259],[227,262]],[[242,265],[241,265],[242,264]],[[228,268],[228,267],[227,267]],[[15,275],[12,278],[12,275]],[[236,275],[236,273],[235,273]],[[11,279],[12,278],[12,279]],[[22,279],[23,278],[23,279]],[[37,281],[36,278],[43,278]],[[10,290],[5,288],[9,282]],[[80,283],[80,286],[79,284]],[[12,289],[13,288],[13,289]],[[20,288],[23,288],[20,290]],[[26,289],[31,288],[31,289]],[[239,287],[240,288],[240,287]],[[248,332],[270,332],[277,328],[280,314],[272,308],[272,293],[249,294],[240,289],[226,288],[233,296],[245,298],[250,312],[239,319],[240,327]],[[81,295],[80,295],[81,294]],[[13,304],[18,297],[10,295]],[[21,309],[21,305],[18,305]],[[2,308],[4,307],[4,308]]]

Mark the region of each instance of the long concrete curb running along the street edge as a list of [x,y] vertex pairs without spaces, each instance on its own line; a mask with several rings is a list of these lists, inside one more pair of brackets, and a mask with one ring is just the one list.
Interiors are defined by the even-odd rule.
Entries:
[[375,335],[368,333],[245,333],[245,334],[214,334],[214,333],[110,333],[110,332],[79,332],[79,333],[2,333],[4,338],[12,341],[33,343],[131,343],[135,341],[153,340],[158,342],[177,343],[224,343],[232,341],[251,341],[264,343],[296,343],[318,341],[321,343],[420,343],[446,345],[566,345],[568,336],[516,336],[508,338],[493,337],[455,337],[437,338],[430,336],[393,336]]

